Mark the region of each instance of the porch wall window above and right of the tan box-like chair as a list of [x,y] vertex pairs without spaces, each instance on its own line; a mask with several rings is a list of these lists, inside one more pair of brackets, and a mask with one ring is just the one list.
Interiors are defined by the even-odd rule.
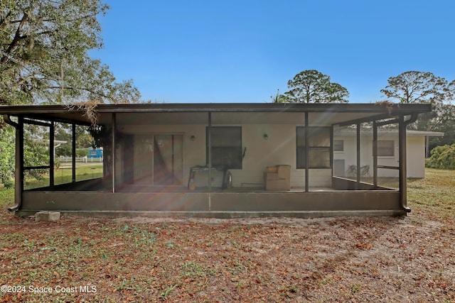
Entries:
[[[330,168],[330,128],[309,127],[309,168]],[[306,167],[305,128],[296,128],[297,168]]]

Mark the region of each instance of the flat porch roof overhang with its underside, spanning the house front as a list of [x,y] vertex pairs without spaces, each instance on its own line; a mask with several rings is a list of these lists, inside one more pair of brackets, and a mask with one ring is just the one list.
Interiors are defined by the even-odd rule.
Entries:
[[[200,103],[200,104],[99,104],[98,123],[111,123],[112,114],[122,124],[207,123],[301,123],[308,112],[310,125],[390,119],[400,115],[431,111],[431,104],[273,104],[273,103]],[[232,113],[237,113],[232,115]],[[288,113],[283,115],[283,113]],[[29,119],[90,124],[82,109],[68,105],[0,106],[0,114]]]

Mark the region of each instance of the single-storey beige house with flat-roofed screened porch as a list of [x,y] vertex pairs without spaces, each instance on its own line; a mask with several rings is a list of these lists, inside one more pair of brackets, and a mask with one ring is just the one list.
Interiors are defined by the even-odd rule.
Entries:
[[[95,136],[102,141],[104,176],[55,184],[50,148],[48,186],[24,188],[24,128],[55,123],[90,126],[84,112],[64,105],[0,106],[16,128],[18,215],[63,211],[93,216],[338,216],[404,215],[407,207],[406,127],[429,104],[101,104]],[[371,136],[365,136],[364,126]],[[382,163],[380,133],[397,127],[398,162]],[[355,165],[337,176],[341,128]],[[336,141],[338,140],[338,141]],[[373,152],[362,153],[363,141]],[[366,147],[370,150],[370,147]],[[394,154],[395,157],[395,154]],[[347,158],[346,158],[347,159]],[[346,160],[346,164],[348,161]],[[365,177],[365,163],[368,175]],[[278,166],[277,166],[278,165]],[[396,186],[382,184],[391,170]],[[268,189],[268,190],[267,190]]]

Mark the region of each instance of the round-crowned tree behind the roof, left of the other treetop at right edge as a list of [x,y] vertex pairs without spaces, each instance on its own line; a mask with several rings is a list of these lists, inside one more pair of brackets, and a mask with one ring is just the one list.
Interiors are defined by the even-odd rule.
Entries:
[[348,89],[330,79],[317,70],[304,70],[287,82],[291,90],[285,97],[295,103],[347,103]]

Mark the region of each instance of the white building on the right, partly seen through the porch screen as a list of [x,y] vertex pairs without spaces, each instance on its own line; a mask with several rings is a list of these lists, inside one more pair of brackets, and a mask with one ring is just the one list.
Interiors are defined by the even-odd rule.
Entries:
[[[333,175],[346,177],[352,175],[357,163],[355,128],[336,129],[333,136]],[[407,134],[407,177],[425,177],[425,139],[440,137],[444,133],[432,131],[412,131]],[[360,166],[363,175],[373,175],[373,129],[362,128],[360,145]],[[378,131],[378,165],[398,167],[398,130],[385,128]],[[378,177],[398,177],[398,170],[379,169]]]

